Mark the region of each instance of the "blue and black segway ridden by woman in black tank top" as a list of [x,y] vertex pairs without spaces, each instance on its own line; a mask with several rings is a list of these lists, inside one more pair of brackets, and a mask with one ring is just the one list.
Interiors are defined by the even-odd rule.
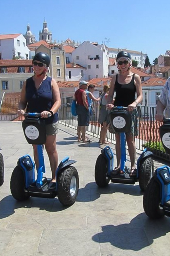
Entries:
[[109,182],[135,184],[139,181],[139,186],[142,191],[145,190],[148,181],[153,176],[153,159],[150,151],[145,148],[139,159],[137,160],[136,176],[131,177],[130,169],[125,165],[126,163],[126,133],[130,130],[131,115],[127,111],[127,107],[113,107],[110,111],[109,119],[110,125],[114,133],[120,133],[121,144],[121,174],[114,174],[113,167],[113,153],[109,146],[101,150],[95,164],[95,182],[99,187],[105,187]]

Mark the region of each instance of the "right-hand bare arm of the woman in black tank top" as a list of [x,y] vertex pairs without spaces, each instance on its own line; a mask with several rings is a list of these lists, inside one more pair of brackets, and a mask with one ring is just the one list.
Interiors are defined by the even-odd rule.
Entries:
[[134,77],[134,84],[136,86],[136,94],[137,94],[137,98],[135,99],[134,102],[132,102],[131,104],[128,105],[127,110],[128,111],[133,111],[136,106],[141,102],[141,100],[143,99],[143,94],[142,94],[142,83],[141,83],[141,78],[139,75],[135,74]]

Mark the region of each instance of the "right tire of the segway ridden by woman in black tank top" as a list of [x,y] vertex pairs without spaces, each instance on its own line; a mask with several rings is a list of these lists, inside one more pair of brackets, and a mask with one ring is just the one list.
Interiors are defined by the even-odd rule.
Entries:
[[148,182],[153,176],[153,172],[153,159],[151,157],[148,157],[142,160],[139,168],[139,186],[142,191],[145,191]]

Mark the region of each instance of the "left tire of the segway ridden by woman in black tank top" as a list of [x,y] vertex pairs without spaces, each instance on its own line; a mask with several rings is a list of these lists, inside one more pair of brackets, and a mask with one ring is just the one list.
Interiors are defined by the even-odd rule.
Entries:
[[107,177],[107,159],[100,154],[95,163],[95,182],[99,187],[106,187],[109,184],[110,178]]

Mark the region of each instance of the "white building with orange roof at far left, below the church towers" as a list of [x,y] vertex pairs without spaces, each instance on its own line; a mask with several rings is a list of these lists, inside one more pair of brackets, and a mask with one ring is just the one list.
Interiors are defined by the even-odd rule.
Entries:
[[0,34],[0,59],[29,59],[29,49],[22,34]]

